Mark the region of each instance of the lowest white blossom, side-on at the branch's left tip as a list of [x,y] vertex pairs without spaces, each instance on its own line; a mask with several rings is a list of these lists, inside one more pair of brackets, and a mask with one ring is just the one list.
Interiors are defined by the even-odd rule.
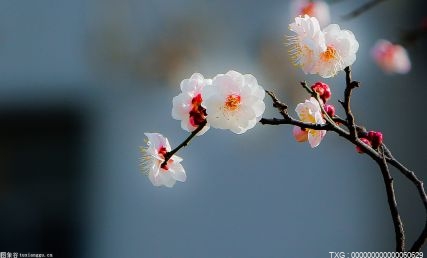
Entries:
[[166,165],[165,154],[171,151],[169,141],[159,133],[145,133],[147,146],[140,147],[141,171],[148,176],[154,186],[172,187],[176,181],[185,182],[187,175],[180,164],[182,158],[173,155]]

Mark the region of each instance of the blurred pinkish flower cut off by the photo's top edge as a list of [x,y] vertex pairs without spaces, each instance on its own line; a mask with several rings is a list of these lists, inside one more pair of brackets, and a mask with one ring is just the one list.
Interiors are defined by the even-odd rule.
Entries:
[[310,1],[310,0],[294,0],[291,3],[291,16],[316,17],[319,21],[320,27],[328,25],[331,21],[329,13],[329,5],[324,1]]

